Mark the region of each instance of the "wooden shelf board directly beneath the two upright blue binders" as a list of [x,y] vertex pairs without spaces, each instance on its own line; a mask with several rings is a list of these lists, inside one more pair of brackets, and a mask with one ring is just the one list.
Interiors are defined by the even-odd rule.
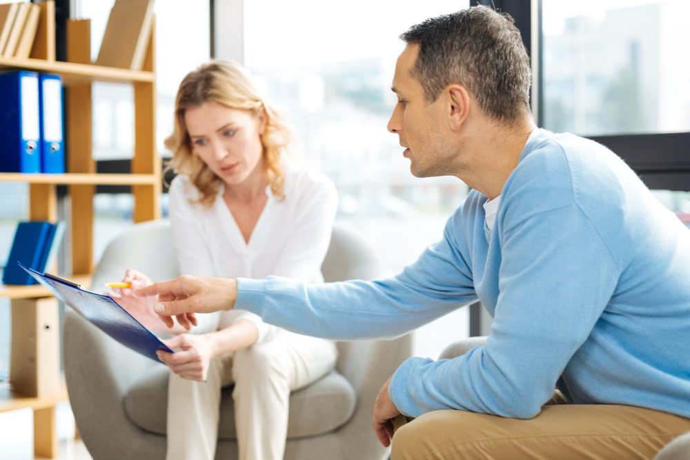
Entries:
[[20,172],[0,172],[0,182],[52,183],[59,185],[153,186],[159,180],[157,174],[97,174],[88,172],[21,174]]

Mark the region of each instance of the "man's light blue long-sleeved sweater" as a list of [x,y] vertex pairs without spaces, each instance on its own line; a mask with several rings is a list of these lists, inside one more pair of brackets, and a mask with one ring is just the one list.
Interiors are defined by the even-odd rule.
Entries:
[[494,318],[486,344],[405,361],[389,389],[403,414],[529,419],[558,386],[574,403],[690,417],[690,231],[679,219],[607,148],[546,130],[522,151],[491,232],[485,201],[470,192],[444,238],[396,277],[240,279],[236,306],[347,340],[395,337],[478,297]]

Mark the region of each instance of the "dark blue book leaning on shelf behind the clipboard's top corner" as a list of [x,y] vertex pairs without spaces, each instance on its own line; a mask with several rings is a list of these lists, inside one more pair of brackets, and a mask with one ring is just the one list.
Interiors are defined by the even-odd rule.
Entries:
[[2,274],[3,283],[36,284],[32,277],[17,266],[17,262],[34,270],[43,270],[41,261],[51,229],[52,225],[46,221],[19,222],[17,231],[14,232],[10,256],[7,258]]

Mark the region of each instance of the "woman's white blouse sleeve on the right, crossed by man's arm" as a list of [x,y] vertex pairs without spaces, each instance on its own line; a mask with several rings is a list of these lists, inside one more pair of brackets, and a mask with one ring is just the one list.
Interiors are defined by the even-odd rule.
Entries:
[[[331,181],[313,183],[304,190],[297,203],[295,223],[290,237],[278,258],[273,274],[306,282],[322,280],[321,264],[331,241],[331,230],[337,209],[337,190]],[[262,321],[256,314],[243,312],[241,319],[252,321],[259,330],[257,343],[270,340],[275,326]]]

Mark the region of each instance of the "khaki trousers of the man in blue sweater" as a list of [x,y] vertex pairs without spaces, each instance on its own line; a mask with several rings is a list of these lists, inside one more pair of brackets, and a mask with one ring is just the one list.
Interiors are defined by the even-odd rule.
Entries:
[[590,404],[544,406],[530,420],[437,410],[394,424],[391,460],[651,459],[690,430],[666,412]]

